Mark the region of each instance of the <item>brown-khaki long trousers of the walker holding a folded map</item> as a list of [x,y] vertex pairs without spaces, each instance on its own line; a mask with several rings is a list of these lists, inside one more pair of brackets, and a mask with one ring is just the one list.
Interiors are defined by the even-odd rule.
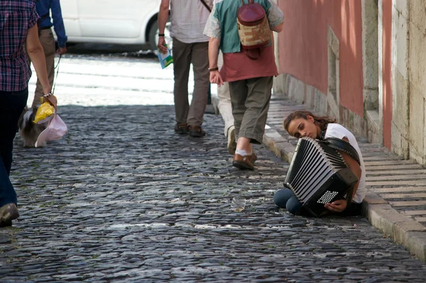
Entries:
[[[209,89],[208,42],[183,43],[173,38],[173,73],[175,75],[176,122],[201,127]],[[194,91],[188,101],[190,66],[194,70]]]

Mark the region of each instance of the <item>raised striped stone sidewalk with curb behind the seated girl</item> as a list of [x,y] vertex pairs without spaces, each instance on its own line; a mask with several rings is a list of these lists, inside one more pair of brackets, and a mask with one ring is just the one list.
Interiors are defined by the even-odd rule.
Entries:
[[[283,119],[305,105],[274,97],[268,112],[264,143],[289,161],[297,139],[283,129]],[[317,113],[322,115],[321,113]],[[426,170],[413,160],[403,160],[381,144],[356,137],[366,166],[364,215],[385,235],[390,235],[420,260],[426,261]],[[425,280],[426,281],[426,280]]]

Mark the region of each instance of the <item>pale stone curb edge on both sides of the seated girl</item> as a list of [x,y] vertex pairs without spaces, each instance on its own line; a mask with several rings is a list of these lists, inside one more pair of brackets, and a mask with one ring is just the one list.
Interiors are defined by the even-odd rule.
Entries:
[[[263,144],[281,159],[291,162],[295,146],[268,125],[263,135]],[[370,191],[363,201],[363,215],[371,225],[381,230],[385,237],[391,237],[394,242],[406,247],[419,260],[426,262],[425,226],[408,215],[398,213],[387,201]]]

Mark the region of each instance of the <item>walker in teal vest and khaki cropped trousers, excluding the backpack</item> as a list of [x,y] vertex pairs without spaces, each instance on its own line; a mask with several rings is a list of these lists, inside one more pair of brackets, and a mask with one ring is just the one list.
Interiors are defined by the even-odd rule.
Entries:
[[[266,11],[271,31],[283,30],[284,16],[272,0],[255,0]],[[251,144],[261,144],[268,117],[273,76],[278,75],[272,40],[261,48],[258,58],[249,58],[241,46],[236,15],[241,1],[216,0],[207,20],[204,34],[209,36],[210,82],[229,82],[234,116],[236,153],[232,165],[253,170],[257,156]],[[272,32],[271,32],[272,38]],[[218,70],[218,50],[224,54],[224,65]]]

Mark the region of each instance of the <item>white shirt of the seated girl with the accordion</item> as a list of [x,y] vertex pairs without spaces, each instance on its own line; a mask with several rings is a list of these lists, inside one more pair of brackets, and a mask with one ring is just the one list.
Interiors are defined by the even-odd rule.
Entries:
[[327,125],[327,131],[325,132],[324,139],[327,139],[328,137],[336,137],[338,139],[343,139],[346,137],[346,139],[349,140],[349,144],[351,146],[354,146],[354,149],[356,149],[356,152],[359,156],[359,161],[361,163],[361,179],[359,180],[358,189],[356,190],[355,196],[352,199],[354,203],[361,203],[362,200],[364,200],[364,196],[366,196],[366,167],[364,166],[364,159],[362,159],[361,150],[359,149],[358,142],[356,142],[356,139],[354,137],[354,134],[349,132],[348,129],[343,127],[341,124],[334,124],[330,123]]

